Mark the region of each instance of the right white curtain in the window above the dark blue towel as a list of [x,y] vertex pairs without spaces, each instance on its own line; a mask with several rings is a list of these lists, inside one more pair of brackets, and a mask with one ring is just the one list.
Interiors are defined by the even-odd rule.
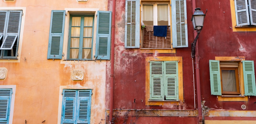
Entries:
[[157,5],[157,21],[168,21],[168,5]]

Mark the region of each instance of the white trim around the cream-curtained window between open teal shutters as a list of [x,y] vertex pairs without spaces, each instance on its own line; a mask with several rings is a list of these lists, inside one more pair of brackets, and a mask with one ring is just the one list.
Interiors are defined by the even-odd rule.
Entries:
[[[68,58],[68,35],[69,35],[69,21],[70,21],[70,12],[72,13],[95,13],[94,14],[94,29],[97,27],[97,13],[99,11],[99,8],[65,8],[66,10],[66,17],[65,17],[65,27],[64,27],[64,38],[63,38],[63,48],[62,48],[62,53],[64,54],[64,57],[62,60],[65,61],[60,61],[61,64],[65,64],[66,60]],[[92,59],[94,59],[95,55],[95,48],[96,48],[96,30],[93,32],[93,45],[92,45]],[[70,61],[71,63],[75,63],[73,60]]]

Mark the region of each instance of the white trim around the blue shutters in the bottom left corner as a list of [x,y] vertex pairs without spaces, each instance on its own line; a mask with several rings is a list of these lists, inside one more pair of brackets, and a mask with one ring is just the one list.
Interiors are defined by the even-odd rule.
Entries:
[[12,99],[11,99],[11,105],[10,105],[10,115],[9,115],[9,122],[8,124],[13,123],[13,112],[14,112],[14,100],[15,100],[15,92],[16,92],[16,85],[0,85],[1,89],[12,89]]

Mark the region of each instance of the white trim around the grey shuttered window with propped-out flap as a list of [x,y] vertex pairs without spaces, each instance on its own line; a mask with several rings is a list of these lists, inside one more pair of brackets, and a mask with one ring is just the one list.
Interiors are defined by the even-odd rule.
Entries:
[[21,56],[21,48],[22,48],[22,41],[23,41],[23,33],[24,33],[24,24],[25,24],[25,17],[26,17],[26,7],[0,7],[0,10],[22,10],[22,18],[21,18],[21,25],[20,25],[20,34],[19,34],[19,46],[18,46],[18,56],[17,59],[0,59],[0,63],[19,63],[20,56]]

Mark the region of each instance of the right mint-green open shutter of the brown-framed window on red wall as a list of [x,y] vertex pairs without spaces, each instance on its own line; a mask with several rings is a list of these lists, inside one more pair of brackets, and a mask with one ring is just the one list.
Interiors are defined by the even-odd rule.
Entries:
[[244,92],[246,96],[256,96],[254,62],[244,60],[243,63],[243,78]]

